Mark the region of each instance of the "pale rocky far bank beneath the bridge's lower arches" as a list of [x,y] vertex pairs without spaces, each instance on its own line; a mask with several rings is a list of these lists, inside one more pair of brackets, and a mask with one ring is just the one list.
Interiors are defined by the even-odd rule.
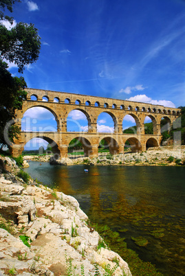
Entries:
[[[51,155],[46,156],[25,156],[26,161],[50,162]],[[125,152],[111,156],[109,153],[101,153],[98,157],[90,159],[81,155],[68,155],[68,158],[56,160],[58,165],[184,165],[185,164],[185,146],[173,147],[162,146],[149,148],[145,152]],[[25,163],[28,165],[28,163]]]

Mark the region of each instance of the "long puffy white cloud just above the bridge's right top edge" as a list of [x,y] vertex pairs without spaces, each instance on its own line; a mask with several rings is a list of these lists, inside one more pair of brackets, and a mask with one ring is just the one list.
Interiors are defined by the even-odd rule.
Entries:
[[175,104],[171,101],[167,100],[152,100],[151,97],[146,96],[145,94],[143,95],[135,95],[134,97],[129,97],[129,99],[126,99],[128,101],[133,101],[133,102],[146,102],[149,104],[159,104],[162,106],[167,106],[167,107],[175,107]]

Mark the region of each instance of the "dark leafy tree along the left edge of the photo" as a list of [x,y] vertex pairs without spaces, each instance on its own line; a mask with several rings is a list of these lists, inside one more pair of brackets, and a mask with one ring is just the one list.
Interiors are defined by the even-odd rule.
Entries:
[[[23,77],[12,77],[8,71],[8,64],[4,60],[14,62],[19,73],[23,73],[25,65],[35,62],[39,58],[41,38],[33,24],[17,23],[8,30],[3,21],[13,23],[13,18],[4,15],[7,9],[12,12],[12,4],[19,0],[0,1],[0,150],[8,145],[3,132],[7,123],[14,118],[16,109],[21,109],[23,100],[26,98],[26,83]],[[9,128],[9,139],[13,141],[20,133],[19,127],[12,124]],[[10,145],[8,145],[10,146]]]

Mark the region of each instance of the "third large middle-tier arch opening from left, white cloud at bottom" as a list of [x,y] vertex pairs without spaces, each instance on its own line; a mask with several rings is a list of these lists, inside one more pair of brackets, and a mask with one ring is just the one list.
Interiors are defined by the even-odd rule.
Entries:
[[116,117],[109,112],[102,112],[97,119],[98,133],[113,133],[118,129]]

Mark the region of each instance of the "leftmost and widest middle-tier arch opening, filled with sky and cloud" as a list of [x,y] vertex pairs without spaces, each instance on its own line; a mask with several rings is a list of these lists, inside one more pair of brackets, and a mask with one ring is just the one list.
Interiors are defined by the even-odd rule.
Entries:
[[58,119],[54,111],[33,106],[25,111],[21,119],[21,131],[25,132],[53,132],[57,131]]

